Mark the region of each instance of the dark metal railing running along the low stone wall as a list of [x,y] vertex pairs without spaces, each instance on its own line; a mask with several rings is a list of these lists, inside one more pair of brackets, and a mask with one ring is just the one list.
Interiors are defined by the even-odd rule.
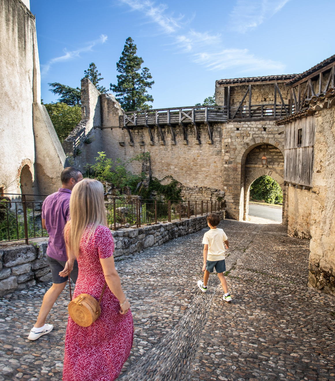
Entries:
[[[15,196],[10,199],[8,196]],[[42,198],[46,195],[2,194],[0,196],[0,242],[48,237],[42,227]],[[39,200],[37,200],[39,198]],[[21,199],[21,200],[20,200]],[[224,201],[159,201],[140,199],[113,199],[105,203],[108,227],[140,227],[145,224],[171,222],[222,211]]]

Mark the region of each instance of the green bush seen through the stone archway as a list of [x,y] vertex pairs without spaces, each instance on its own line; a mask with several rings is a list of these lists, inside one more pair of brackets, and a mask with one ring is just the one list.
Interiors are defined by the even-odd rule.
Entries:
[[251,184],[250,199],[264,200],[269,204],[278,204],[282,202],[282,190],[276,180],[264,175]]

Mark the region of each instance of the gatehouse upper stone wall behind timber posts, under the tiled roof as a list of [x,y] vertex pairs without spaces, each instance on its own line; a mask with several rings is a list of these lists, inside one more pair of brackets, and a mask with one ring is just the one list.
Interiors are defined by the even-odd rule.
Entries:
[[[249,85],[230,86],[230,106],[239,106],[244,94],[246,93]],[[219,106],[224,105],[225,90],[227,85],[215,84],[215,101]],[[279,90],[282,94],[284,102],[289,102],[290,88],[286,87],[284,83],[278,82]],[[274,102],[274,83],[264,83],[251,85],[251,104],[273,104]],[[244,99],[243,104],[249,103],[249,93]],[[277,91],[277,104],[281,103]]]

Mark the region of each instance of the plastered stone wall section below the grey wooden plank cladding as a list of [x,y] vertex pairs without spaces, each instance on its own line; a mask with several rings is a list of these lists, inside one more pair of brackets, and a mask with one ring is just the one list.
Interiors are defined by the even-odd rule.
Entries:
[[311,238],[312,193],[307,189],[288,187],[288,229],[290,237]]

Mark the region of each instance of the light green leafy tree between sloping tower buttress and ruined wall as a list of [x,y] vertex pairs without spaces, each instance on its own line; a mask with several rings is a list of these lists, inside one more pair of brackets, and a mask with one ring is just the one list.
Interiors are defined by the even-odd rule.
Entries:
[[81,120],[80,106],[69,106],[58,102],[45,104],[45,107],[59,140],[64,141]]

